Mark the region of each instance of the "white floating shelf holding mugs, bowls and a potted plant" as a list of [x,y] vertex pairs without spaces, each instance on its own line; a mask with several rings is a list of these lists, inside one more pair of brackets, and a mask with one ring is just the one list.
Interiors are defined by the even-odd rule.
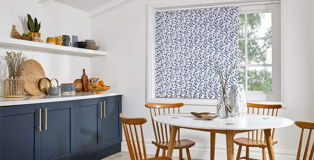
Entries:
[[52,52],[83,54],[83,55],[88,55],[88,56],[106,56],[107,55],[107,52],[104,52],[104,51],[95,51],[91,49],[83,49],[83,48],[76,48],[76,47],[53,45],[53,44],[48,44],[48,43],[25,41],[25,40],[19,40],[19,39],[14,39],[14,38],[7,38],[7,37],[0,37],[0,45],[38,49],[38,50],[52,51]]

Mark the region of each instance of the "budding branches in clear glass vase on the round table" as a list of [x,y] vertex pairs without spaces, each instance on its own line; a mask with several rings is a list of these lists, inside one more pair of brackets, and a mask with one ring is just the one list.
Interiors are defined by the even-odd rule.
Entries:
[[[228,72],[228,66],[226,68],[227,70],[227,75],[224,77],[223,73],[221,72],[220,70],[220,67],[219,67],[219,63],[217,62],[214,62],[215,64],[215,67],[216,67],[216,70],[219,74],[219,78],[220,78],[220,83],[221,83],[221,87],[222,87],[222,98],[220,99],[220,101],[217,103],[217,114],[219,113],[219,109],[221,106],[225,106],[225,117],[222,117],[222,118],[228,118],[230,117],[231,115],[231,104],[230,102],[228,102],[228,99],[227,99],[227,93],[226,93],[226,87],[227,87],[227,84],[228,84],[228,80],[229,80],[229,77],[233,71],[233,69],[236,68],[236,66],[238,65],[238,63],[236,63],[234,66],[231,67],[230,69],[230,72]],[[229,112],[229,115],[228,115],[228,112]],[[221,116],[220,116],[221,117]]]

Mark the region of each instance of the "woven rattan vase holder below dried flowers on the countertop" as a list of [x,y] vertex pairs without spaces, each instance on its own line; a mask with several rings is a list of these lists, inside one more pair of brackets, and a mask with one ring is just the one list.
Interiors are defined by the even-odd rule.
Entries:
[[24,97],[24,80],[22,79],[4,80],[3,97],[14,97],[14,98]]

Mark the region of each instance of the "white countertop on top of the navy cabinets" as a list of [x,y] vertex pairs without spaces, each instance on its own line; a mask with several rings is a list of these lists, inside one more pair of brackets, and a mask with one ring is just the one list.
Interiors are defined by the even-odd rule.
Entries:
[[73,94],[62,94],[62,93],[60,93],[60,95],[40,94],[38,96],[24,95],[23,98],[0,97],[0,106],[13,106],[13,105],[21,105],[21,104],[71,101],[71,100],[78,100],[78,99],[109,97],[109,96],[117,96],[117,95],[123,95],[123,92],[121,92],[121,91],[106,91],[105,93],[76,92]]

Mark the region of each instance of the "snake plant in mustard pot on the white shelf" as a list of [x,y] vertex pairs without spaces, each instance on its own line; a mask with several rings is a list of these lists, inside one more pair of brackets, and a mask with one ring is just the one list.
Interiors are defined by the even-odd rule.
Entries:
[[31,34],[31,36],[33,37],[32,41],[36,41],[36,42],[40,42],[41,38],[40,38],[40,34],[39,30],[40,30],[40,25],[41,22],[37,22],[37,19],[35,17],[35,19],[33,20],[32,17],[27,14],[27,28],[30,31],[29,34]]

